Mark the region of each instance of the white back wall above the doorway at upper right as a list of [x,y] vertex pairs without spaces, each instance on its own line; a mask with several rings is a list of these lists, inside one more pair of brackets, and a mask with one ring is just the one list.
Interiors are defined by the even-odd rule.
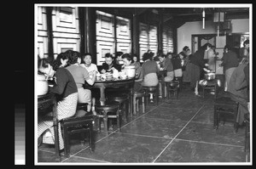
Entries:
[[[249,19],[231,20],[232,33],[249,32]],[[206,21],[205,29],[202,29],[202,22],[187,22],[177,29],[177,53],[181,52],[184,46],[191,47],[191,35],[193,34],[217,34],[215,24]]]

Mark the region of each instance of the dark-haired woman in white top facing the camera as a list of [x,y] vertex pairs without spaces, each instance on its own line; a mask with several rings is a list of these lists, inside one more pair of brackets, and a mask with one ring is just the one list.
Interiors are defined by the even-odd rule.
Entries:
[[[92,55],[90,53],[81,54],[81,66],[84,67],[88,72],[90,79],[93,78],[94,72],[98,72],[98,68],[96,64],[91,63]],[[84,87],[86,88],[86,87]],[[95,104],[96,104],[96,97],[100,97],[100,93],[97,88],[87,88],[91,91],[91,111],[93,115],[96,115],[95,111]]]

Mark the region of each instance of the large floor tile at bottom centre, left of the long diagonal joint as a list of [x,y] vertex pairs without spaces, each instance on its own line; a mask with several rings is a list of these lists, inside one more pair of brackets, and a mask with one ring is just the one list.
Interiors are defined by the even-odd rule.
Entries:
[[81,151],[75,156],[108,162],[152,162],[170,139],[148,138],[125,133],[113,133],[96,143],[95,152]]

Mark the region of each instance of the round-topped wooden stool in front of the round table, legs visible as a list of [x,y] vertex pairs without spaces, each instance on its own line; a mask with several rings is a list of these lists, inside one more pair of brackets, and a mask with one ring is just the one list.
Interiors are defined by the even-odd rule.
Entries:
[[120,115],[119,115],[119,102],[113,101],[113,102],[106,102],[105,105],[101,105],[99,103],[96,104],[95,107],[97,117],[98,117],[98,125],[99,125],[99,131],[101,132],[101,123],[102,119],[104,122],[104,128],[105,132],[107,132],[108,135],[108,118],[116,118],[117,119],[117,126],[120,131]]

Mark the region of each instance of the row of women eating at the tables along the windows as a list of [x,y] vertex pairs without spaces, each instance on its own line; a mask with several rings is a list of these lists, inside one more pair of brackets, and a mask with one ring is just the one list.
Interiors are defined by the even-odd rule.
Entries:
[[[95,88],[93,88],[96,74],[113,72],[113,70],[121,71],[129,65],[134,65],[136,70],[134,91],[142,91],[143,87],[158,86],[159,72],[166,70],[165,82],[171,82],[174,78],[189,82],[195,95],[198,96],[201,70],[206,66],[211,67],[203,60],[204,53],[210,49],[212,46],[207,43],[195,54],[191,54],[187,46],[179,54],[163,54],[160,51],[154,56],[154,53],[148,51],[143,54],[142,64],[139,62],[137,54],[118,52],[113,57],[113,54],[108,53],[105,54],[105,62],[101,66],[92,63],[93,56],[90,53],[80,54],[77,51],[67,50],[58,54],[53,61],[38,58],[38,73],[55,77],[54,86],[49,87],[49,92],[56,95],[56,110],[58,120],[61,121],[63,118],[76,114],[78,103],[87,103],[87,111],[96,115],[95,104],[98,98]],[[150,99],[153,99],[153,95],[150,95]],[[63,149],[61,125],[59,125],[58,130],[60,149]],[[38,145],[42,142],[54,144],[53,136],[53,121],[50,115],[38,117]]]

